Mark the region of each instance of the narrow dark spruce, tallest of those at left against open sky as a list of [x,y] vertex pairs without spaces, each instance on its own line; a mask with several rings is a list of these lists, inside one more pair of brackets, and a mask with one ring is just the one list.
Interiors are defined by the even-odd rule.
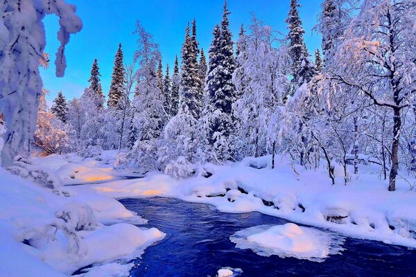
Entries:
[[125,69],[123,64],[123,51],[121,50],[121,44],[117,50],[114,58],[114,67],[112,73],[112,80],[110,84],[110,93],[108,93],[108,107],[117,108],[119,101],[123,98],[123,87],[125,82]]

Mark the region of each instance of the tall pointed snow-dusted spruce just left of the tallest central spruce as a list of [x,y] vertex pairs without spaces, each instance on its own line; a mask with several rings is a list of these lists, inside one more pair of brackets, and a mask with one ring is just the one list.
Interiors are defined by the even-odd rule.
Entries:
[[199,118],[202,109],[200,97],[200,78],[198,75],[198,60],[195,53],[195,44],[190,35],[189,24],[182,46],[182,76],[180,78],[180,112],[191,114]]

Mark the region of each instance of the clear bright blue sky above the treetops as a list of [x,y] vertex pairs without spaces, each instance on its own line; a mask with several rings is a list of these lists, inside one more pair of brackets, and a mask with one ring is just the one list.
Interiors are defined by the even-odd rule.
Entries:
[[[77,6],[77,14],[83,20],[83,30],[73,35],[67,46],[67,70],[64,78],[55,77],[53,60],[58,48],[56,33],[58,18],[46,17],[46,53],[51,54],[51,67],[42,70],[44,87],[49,89],[48,102],[62,91],[67,99],[79,97],[89,86],[89,71],[94,58],[100,66],[103,91],[107,96],[110,87],[114,55],[119,42],[123,44],[125,62],[132,60],[136,47],[132,31],[139,19],[146,30],[152,33],[160,46],[164,65],[173,65],[175,55],[180,56],[184,30],[188,21],[196,18],[197,39],[207,50],[212,39],[212,29],[220,22],[223,0],[67,0]],[[228,0],[231,15],[230,28],[234,38],[240,25],[250,23],[251,14],[287,33],[286,19],[290,0]],[[306,31],[305,40],[309,51],[320,48],[320,35],[312,32],[320,12],[321,0],[300,0],[300,15]]]

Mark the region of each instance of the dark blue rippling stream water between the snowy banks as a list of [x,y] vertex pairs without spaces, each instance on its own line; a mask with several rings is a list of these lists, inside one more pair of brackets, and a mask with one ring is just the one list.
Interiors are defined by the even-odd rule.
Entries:
[[148,220],[166,238],[135,260],[133,277],[216,276],[221,267],[243,269],[241,276],[416,276],[416,250],[370,240],[345,240],[341,255],[324,262],[258,256],[237,249],[229,237],[241,229],[286,220],[261,213],[220,213],[206,204],[154,197],[121,203]]

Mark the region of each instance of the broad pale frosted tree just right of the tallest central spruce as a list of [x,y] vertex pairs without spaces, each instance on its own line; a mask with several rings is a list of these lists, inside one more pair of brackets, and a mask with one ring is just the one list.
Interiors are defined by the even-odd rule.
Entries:
[[237,57],[239,68],[234,74],[238,88],[243,90],[234,106],[239,121],[236,145],[239,159],[272,152],[290,66],[286,46],[275,48],[275,32],[256,17],[252,19],[250,34],[241,35],[240,42],[243,39],[244,48],[240,48]]

